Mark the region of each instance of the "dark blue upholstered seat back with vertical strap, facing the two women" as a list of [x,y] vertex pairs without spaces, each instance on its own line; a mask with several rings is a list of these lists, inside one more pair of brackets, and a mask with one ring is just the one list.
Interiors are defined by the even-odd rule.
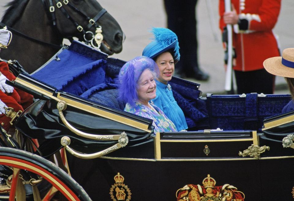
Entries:
[[291,99],[290,95],[257,94],[212,95],[207,97],[206,107],[211,129],[259,130],[266,117],[281,114],[283,107]]

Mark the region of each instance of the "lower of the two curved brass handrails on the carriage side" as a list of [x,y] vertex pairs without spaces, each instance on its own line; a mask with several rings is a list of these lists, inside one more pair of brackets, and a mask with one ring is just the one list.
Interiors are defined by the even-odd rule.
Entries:
[[98,158],[98,157],[101,157],[101,156],[104,156],[106,155],[107,153],[110,153],[110,152],[113,152],[119,148],[122,148],[124,146],[126,146],[129,142],[129,139],[126,135],[125,132],[121,133],[120,134],[120,137],[118,139],[118,143],[107,148],[107,149],[104,149],[100,152],[96,152],[96,153],[90,153],[90,154],[84,154],[84,153],[79,153],[77,151],[75,151],[74,149],[70,148],[69,145],[70,145],[70,137],[67,137],[67,136],[64,136],[61,138],[61,145],[65,147],[65,149],[71,153],[72,155],[74,155],[75,157],[78,157],[78,158],[82,158],[82,159],[93,159],[93,158]]

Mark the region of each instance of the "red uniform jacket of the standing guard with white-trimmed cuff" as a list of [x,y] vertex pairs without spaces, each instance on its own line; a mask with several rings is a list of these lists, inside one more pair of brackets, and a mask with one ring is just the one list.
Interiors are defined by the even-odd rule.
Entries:
[[[239,19],[249,22],[246,33],[233,33],[233,46],[236,51],[234,70],[253,71],[263,68],[263,61],[280,56],[277,40],[272,29],[281,8],[281,0],[231,0]],[[224,0],[219,1],[220,29],[223,31]],[[234,26],[234,29],[238,25]]]

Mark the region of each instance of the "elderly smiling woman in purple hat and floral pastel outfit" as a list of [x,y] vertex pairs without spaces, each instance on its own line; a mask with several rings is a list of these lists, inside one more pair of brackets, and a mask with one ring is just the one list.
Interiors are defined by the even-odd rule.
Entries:
[[138,56],[123,65],[119,72],[119,99],[126,102],[125,111],[153,120],[154,133],[177,131],[174,123],[152,102],[156,97],[156,63]]

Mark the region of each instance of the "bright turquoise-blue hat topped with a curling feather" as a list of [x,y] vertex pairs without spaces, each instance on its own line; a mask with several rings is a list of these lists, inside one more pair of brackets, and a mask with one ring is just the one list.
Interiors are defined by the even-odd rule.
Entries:
[[153,27],[151,32],[154,35],[153,41],[143,50],[142,56],[154,58],[169,49],[174,49],[173,58],[180,60],[179,42],[177,35],[167,28]]

